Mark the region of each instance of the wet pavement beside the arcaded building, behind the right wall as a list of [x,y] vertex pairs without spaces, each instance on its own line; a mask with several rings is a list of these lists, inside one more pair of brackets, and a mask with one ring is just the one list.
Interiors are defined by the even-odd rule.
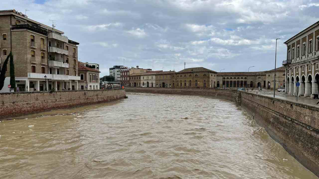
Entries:
[[[249,90],[248,92],[253,92],[255,94],[256,94],[256,92],[258,92],[257,94],[259,94],[259,95],[274,97],[274,91],[267,90],[267,89],[263,89],[262,91],[258,91],[258,90],[251,91],[251,90]],[[285,100],[288,100],[288,101],[296,102],[296,97],[295,96],[285,94],[284,92],[278,92],[277,90],[275,91],[275,98],[285,99]],[[299,103],[305,103],[305,104],[311,104],[311,105],[315,105],[315,106],[319,107],[319,105],[316,104],[318,102],[318,99],[312,99],[310,97],[298,97],[298,102]]]

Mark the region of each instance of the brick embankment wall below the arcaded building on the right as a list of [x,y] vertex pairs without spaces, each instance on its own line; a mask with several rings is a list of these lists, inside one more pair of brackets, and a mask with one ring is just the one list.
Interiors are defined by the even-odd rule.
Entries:
[[241,92],[241,107],[303,166],[319,176],[319,108]]

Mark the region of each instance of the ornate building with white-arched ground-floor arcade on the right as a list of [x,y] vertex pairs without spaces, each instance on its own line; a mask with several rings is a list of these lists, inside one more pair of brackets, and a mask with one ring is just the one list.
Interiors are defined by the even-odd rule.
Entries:
[[[303,97],[319,92],[319,21],[286,42],[286,94]],[[296,87],[296,82],[300,86]]]

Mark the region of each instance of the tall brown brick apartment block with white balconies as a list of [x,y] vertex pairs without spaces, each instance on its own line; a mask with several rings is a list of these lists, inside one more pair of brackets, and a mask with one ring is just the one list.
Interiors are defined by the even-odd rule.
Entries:
[[10,62],[3,63],[12,51],[19,91],[78,89],[79,43],[63,34],[16,10],[0,11],[0,68],[7,69],[6,79]]

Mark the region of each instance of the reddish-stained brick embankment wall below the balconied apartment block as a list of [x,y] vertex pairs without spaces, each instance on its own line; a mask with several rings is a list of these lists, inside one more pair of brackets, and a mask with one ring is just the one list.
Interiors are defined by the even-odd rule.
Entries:
[[125,89],[0,93],[0,118],[106,103],[125,97]]

